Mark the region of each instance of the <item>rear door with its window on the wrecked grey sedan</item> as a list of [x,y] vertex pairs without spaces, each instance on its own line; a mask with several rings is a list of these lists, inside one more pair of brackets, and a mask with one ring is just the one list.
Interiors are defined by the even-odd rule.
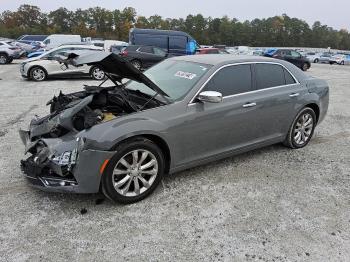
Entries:
[[300,98],[308,91],[282,65],[254,65],[257,142],[284,138],[294,117]]

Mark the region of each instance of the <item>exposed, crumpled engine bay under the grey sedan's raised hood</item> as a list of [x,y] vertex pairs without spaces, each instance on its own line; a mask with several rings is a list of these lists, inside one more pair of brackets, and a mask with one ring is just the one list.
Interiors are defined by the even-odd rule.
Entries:
[[50,114],[30,123],[31,141],[56,138],[70,131],[79,132],[116,117],[157,107],[159,100],[121,86],[85,86],[84,91],[54,96]]

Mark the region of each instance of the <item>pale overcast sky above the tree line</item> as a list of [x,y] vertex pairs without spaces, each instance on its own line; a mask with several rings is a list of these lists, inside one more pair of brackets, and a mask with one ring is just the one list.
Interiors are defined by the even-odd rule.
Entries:
[[110,10],[134,7],[138,15],[185,18],[188,14],[204,17],[237,18],[240,21],[266,18],[286,13],[305,20],[310,25],[315,21],[335,29],[350,31],[350,0],[0,0],[0,12],[15,11],[21,4],[39,6],[48,12],[59,7],[77,8],[104,7]]

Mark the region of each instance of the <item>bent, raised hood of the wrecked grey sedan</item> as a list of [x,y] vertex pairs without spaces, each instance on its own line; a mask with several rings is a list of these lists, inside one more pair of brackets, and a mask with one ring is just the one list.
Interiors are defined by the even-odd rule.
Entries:
[[152,80],[145,76],[141,71],[136,69],[131,63],[124,58],[107,52],[94,52],[91,54],[70,54],[67,63],[75,66],[79,65],[96,65],[100,67],[105,73],[109,74],[114,81],[120,81],[123,78],[144,83],[162,96],[168,96],[162,89],[160,89]]

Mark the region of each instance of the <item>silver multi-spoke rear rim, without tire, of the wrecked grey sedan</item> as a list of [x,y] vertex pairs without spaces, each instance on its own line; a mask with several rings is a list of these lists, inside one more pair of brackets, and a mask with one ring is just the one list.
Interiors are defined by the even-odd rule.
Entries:
[[299,146],[306,144],[311,138],[313,127],[314,120],[312,118],[312,115],[309,113],[302,114],[298,118],[294,127],[294,142]]

